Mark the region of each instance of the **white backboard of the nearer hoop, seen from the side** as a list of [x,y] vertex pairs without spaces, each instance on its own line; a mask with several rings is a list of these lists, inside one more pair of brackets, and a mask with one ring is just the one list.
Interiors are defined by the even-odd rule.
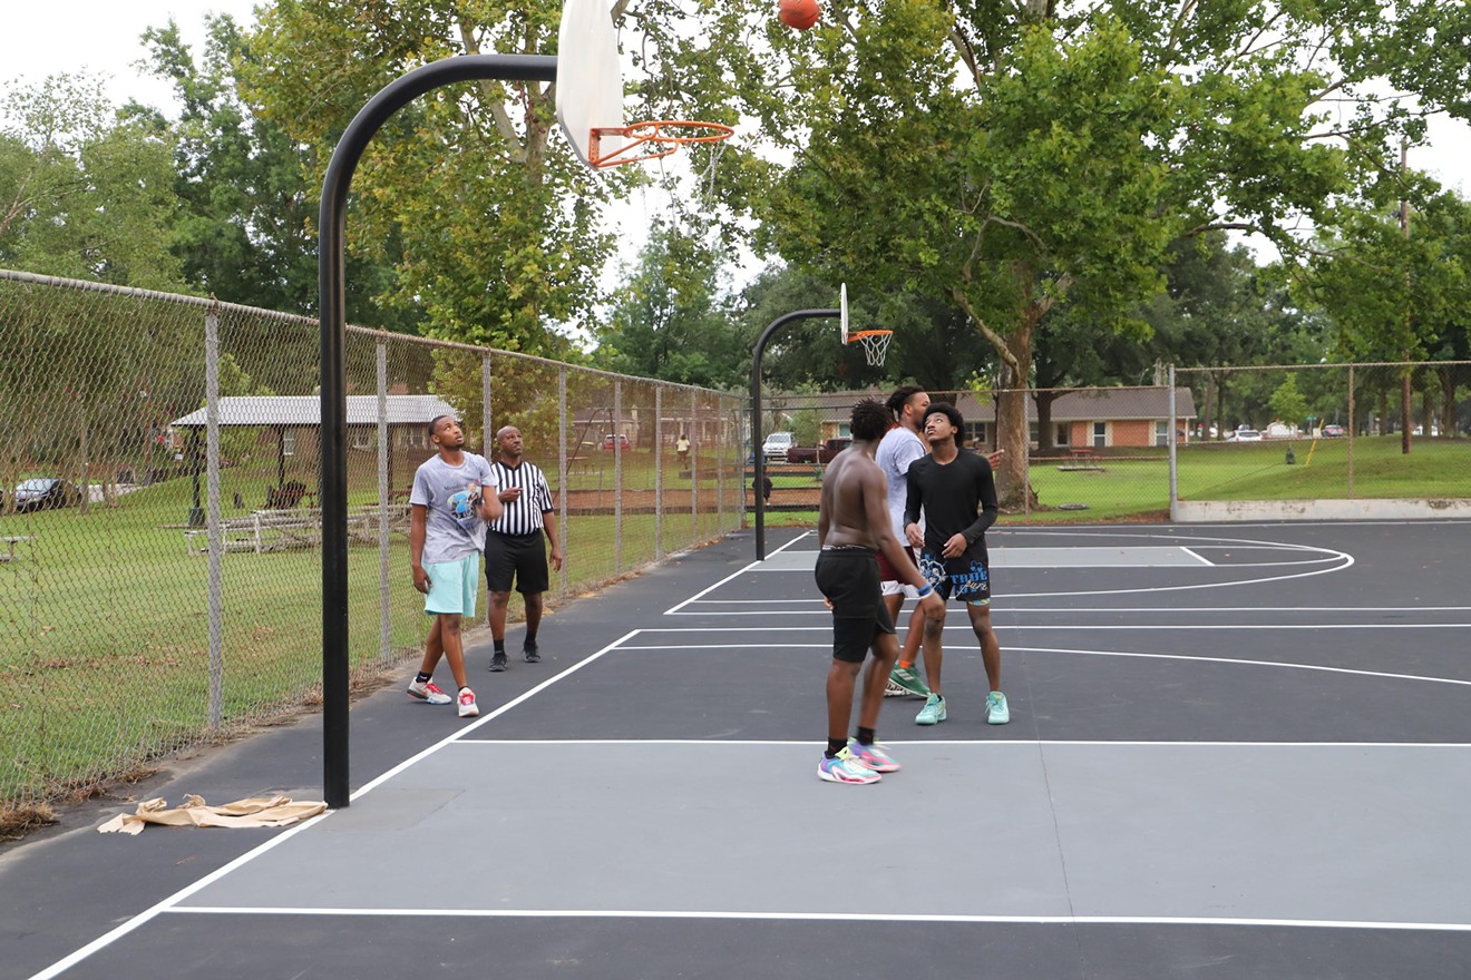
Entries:
[[556,118],[583,163],[618,153],[627,140],[594,129],[624,126],[624,71],[606,0],[566,0],[558,34]]

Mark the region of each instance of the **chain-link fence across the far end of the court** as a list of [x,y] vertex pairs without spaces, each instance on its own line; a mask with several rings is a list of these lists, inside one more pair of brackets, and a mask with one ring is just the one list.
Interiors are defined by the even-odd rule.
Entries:
[[[1159,373],[1167,383],[928,395],[959,408],[983,453],[1025,419],[1025,457],[997,464],[1009,522],[1471,516],[1471,363],[1190,369],[1172,388]],[[763,397],[762,432],[793,447],[768,435],[772,522],[815,520],[830,441],[859,398],[888,394]]]

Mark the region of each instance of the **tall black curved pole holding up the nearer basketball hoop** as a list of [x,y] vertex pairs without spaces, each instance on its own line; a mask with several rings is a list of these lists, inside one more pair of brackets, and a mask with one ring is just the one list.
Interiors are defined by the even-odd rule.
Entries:
[[465,54],[447,57],[388,82],[343,131],[322,182],[318,285],[322,314],[322,783],[328,807],[350,799],[347,773],[347,323],[343,229],[347,188],[368,143],[393,113],[419,96],[477,79],[556,81],[556,57]]

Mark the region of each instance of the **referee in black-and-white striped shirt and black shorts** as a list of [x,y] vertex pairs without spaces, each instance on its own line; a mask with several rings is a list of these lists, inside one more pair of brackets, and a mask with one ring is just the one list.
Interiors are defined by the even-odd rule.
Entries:
[[491,671],[506,669],[506,601],[510,585],[527,604],[527,639],[521,655],[528,664],[541,660],[537,651],[537,627],[541,626],[541,594],[550,585],[546,547],[541,533],[552,542],[552,567],[562,570],[562,542],[556,535],[556,511],[547,478],[525,460],[521,429],[505,426],[496,433],[500,460],[491,464],[500,486],[505,513],[487,525],[485,583],[490,589],[490,636],[496,652],[490,658]]

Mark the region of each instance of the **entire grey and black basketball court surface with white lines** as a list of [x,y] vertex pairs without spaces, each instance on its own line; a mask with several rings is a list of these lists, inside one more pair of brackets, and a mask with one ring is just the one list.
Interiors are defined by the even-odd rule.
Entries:
[[[959,605],[950,717],[815,776],[815,536],[549,617],[482,717],[353,710],[353,804],[0,852],[0,977],[1465,977],[1471,525],[989,535],[1012,723]],[[908,611],[900,617],[908,620]],[[512,645],[516,638],[512,636]],[[138,796],[319,798],[315,718]]]

